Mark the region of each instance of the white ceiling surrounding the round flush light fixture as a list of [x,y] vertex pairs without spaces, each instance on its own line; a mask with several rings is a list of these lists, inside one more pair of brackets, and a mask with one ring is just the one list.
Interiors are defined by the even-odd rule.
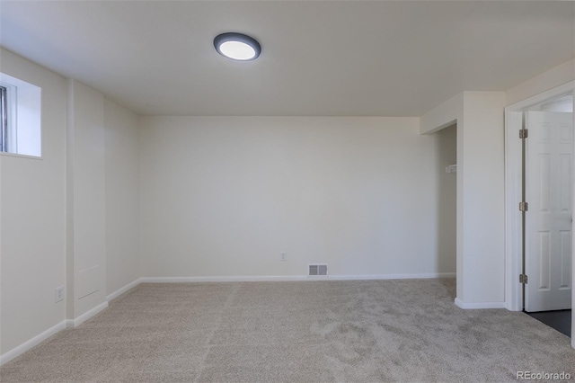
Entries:
[[575,57],[575,3],[0,1],[0,45],[140,114],[420,116]]

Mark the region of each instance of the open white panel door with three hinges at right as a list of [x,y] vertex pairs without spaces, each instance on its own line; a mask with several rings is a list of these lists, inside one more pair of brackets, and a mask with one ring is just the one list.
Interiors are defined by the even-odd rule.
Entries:
[[571,113],[527,111],[526,311],[571,308]]

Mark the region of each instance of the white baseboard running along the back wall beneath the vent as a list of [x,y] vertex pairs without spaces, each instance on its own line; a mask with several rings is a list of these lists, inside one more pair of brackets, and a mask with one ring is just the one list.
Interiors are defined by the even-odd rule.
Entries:
[[370,281],[370,280],[421,280],[433,278],[456,278],[455,272],[425,274],[373,274],[373,275],[306,275],[243,276],[243,277],[144,277],[139,283],[185,283],[185,282],[254,282],[254,281]]

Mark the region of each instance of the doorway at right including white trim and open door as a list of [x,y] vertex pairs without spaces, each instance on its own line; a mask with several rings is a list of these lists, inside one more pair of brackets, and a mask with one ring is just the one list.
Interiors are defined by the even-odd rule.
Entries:
[[[558,327],[556,323],[561,322],[563,324],[561,328],[565,329],[564,323],[567,322],[566,327],[569,329],[571,326],[571,334],[573,328],[575,328],[575,318],[571,316],[571,313],[563,311],[561,306],[557,306],[558,304],[554,298],[549,300],[547,298],[537,299],[536,296],[537,293],[541,293],[541,297],[545,296],[544,293],[553,295],[553,289],[555,292],[562,292],[562,294],[567,292],[571,296],[571,303],[565,310],[571,309],[573,300],[575,300],[571,293],[572,275],[575,273],[575,263],[572,262],[573,248],[571,245],[571,207],[575,206],[575,196],[573,196],[572,192],[573,169],[575,168],[573,160],[573,149],[575,148],[573,136],[575,134],[572,129],[574,88],[575,81],[571,81],[505,108],[506,307],[512,311],[524,311],[524,307],[526,307],[526,311],[533,312],[542,309],[543,311],[541,312],[536,311],[539,314],[531,313],[531,315],[534,317],[538,316],[538,319],[544,319],[548,325],[552,325],[555,328]],[[539,120],[537,122],[537,118],[541,117],[537,116],[537,113],[543,113],[544,115],[545,113],[571,113],[571,120],[565,122],[571,123],[571,126],[567,128],[560,121],[559,128],[551,128],[551,125],[556,121],[549,123],[545,120]],[[527,125],[538,123],[539,125],[532,128],[532,131],[527,131],[527,138],[521,139],[521,129],[530,128],[524,126],[525,123]],[[544,128],[539,129],[542,124]],[[550,134],[553,129],[555,131],[553,133],[555,138],[553,139],[559,139],[559,143],[553,145],[563,147],[563,149],[567,148],[566,152],[561,153],[562,149],[560,149],[554,155],[551,152],[544,153],[544,150],[549,149],[549,146],[552,145]],[[541,139],[542,135],[544,139]],[[531,138],[535,139],[529,142]],[[548,142],[545,145],[540,145],[544,141]],[[571,142],[571,144],[568,144],[568,142]],[[529,164],[526,164],[525,193],[523,187],[524,145],[527,152],[531,150],[530,153],[532,155],[535,154],[533,156],[535,165],[529,166]],[[528,156],[526,153],[526,158]],[[552,159],[552,156],[554,159]],[[531,162],[534,162],[533,158]],[[553,162],[555,165],[552,165]],[[535,187],[534,189],[533,183],[537,179],[540,184],[538,188]],[[554,183],[560,180],[553,188],[550,186],[552,179],[555,180],[553,181]],[[529,180],[531,180],[531,183]],[[543,181],[548,183],[548,187],[542,187],[541,182]],[[546,201],[546,204],[542,201]],[[559,212],[560,217],[563,215],[562,222],[561,219],[558,220],[559,224],[550,224],[550,222],[557,221],[552,219],[552,201],[555,212]],[[521,202],[527,202],[527,206],[523,206],[524,209],[526,208],[526,212],[520,211]],[[526,216],[525,221],[524,216]],[[539,223],[536,224],[537,222]],[[547,225],[547,227],[544,227],[544,225]],[[563,226],[559,227],[558,225]],[[531,234],[529,231],[531,231]],[[524,238],[525,245],[523,243]],[[554,253],[552,252],[553,244],[555,248],[559,249],[559,252],[556,250]],[[559,263],[552,261],[552,257],[556,257],[557,254],[559,254],[559,259],[561,260]],[[535,261],[532,259],[531,263],[529,263],[530,256]],[[526,263],[524,263],[524,259]],[[531,266],[535,266],[535,274],[530,271],[530,268],[533,268]],[[560,271],[559,274],[557,274],[558,270]],[[526,289],[525,294],[524,288]],[[535,289],[535,292],[528,291],[527,289],[529,288]],[[530,292],[531,295],[529,295]],[[526,299],[525,305],[524,298]],[[532,298],[535,298],[535,303],[532,302]],[[565,299],[565,301],[567,300],[569,298]],[[552,302],[551,307],[537,308],[538,301],[547,306],[549,306],[549,302]],[[545,310],[551,310],[552,313],[545,313]],[[567,315],[571,316],[571,320],[569,317],[565,317]],[[551,317],[544,318],[542,316]],[[564,331],[563,334],[565,333],[569,333],[569,331]],[[571,345],[575,347],[575,340],[571,339]]]

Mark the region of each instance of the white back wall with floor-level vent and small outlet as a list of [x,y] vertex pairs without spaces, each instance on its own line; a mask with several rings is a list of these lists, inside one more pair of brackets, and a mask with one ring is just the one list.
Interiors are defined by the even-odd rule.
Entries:
[[142,117],[140,134],[145,277],[454,271],[417,118]]

